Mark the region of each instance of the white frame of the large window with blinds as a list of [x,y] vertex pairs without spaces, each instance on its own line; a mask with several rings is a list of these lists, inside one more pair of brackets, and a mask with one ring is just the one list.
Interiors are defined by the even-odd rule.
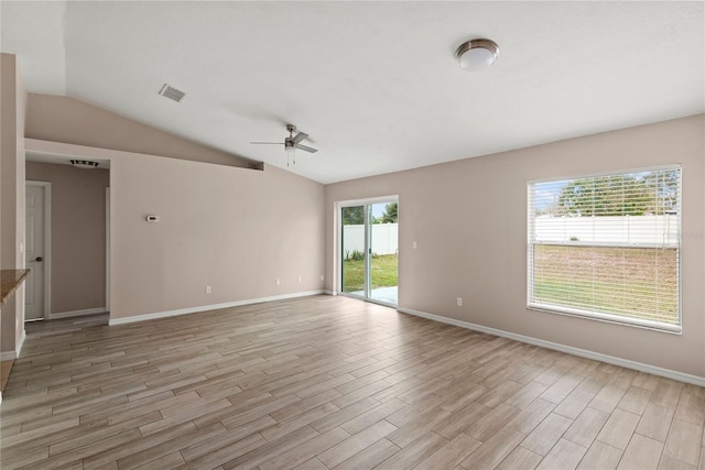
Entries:
[[[539,303],[533,299],[534,294],[534,248],[536,245],[565,245],[565,247],[615,247],[615,248],[634,248],[633,245],[623,243],[596,243],[596,242],[564,242],[562,244],[553,243],[536,243],[532,240],[532,236],[535,233],[535,207],[534,207],[534,188],[538,184],[544,183],[558,183],[558,182],[572,182],[598,177],[608,176],[622,176],[632,175],[647,172],[679,172],[679,186],[677,186],[677,237],[676,237],[676,302],[677,302],[677,323],[669,324],[657,320],[649,320],[642,318],[633,318],[629,316],[621,316],[619,314],[609,314],[603,311],[594,311],[588,309],[567,307],[561,305],[553,305],[550,303]],[[683,166],[681,164],[670,164],[662,166],[650,166],[640,168],[627,168],[615,170],[609,172],[593,173],[581,176],[556,176],[551,178],[530,179],[527,181],[527,310],[543,311],[554,315],[577,317],[588,320],[609,323],[621,326],[629,326],[636,328],[644,328],[655,330],[660,332],[668,332],[674,335],[682,335],[683,331],[683,305],[682,305],[682,260],[683,260]],[[655,248],[654,248],[655,249]]]

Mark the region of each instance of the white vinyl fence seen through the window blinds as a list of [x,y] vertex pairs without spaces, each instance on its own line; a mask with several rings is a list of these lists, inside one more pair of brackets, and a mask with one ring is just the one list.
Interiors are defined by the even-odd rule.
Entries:
[[534,240],[543,243],[585,242],[636,245],[677,244],[679,216],[538,216]]

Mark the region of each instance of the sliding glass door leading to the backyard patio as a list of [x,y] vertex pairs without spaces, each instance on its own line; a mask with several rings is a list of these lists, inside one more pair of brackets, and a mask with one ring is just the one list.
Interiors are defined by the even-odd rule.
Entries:
[[340,292],[397,306],[399,204],[340,207]]

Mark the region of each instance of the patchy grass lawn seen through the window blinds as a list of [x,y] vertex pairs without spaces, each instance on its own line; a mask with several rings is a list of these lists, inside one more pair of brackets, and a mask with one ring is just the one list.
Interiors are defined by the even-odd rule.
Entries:
[[558,306],[616,315],[636,313],[638,318],[675,323],[676,256],[676,251],[669,249],[654,252],[638,248],[536,245],[534,298]]

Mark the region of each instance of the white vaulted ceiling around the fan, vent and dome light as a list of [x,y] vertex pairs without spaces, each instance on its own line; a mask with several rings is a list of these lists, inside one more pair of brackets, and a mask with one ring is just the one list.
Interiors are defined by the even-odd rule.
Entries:
[[[2,1],[1,46],[30,92],[273,165],[249,142],[292,122],[321,151],[290,171],[332,183],[703,113],[704,6]],[[476,37],[499,59],[463,72]]]

